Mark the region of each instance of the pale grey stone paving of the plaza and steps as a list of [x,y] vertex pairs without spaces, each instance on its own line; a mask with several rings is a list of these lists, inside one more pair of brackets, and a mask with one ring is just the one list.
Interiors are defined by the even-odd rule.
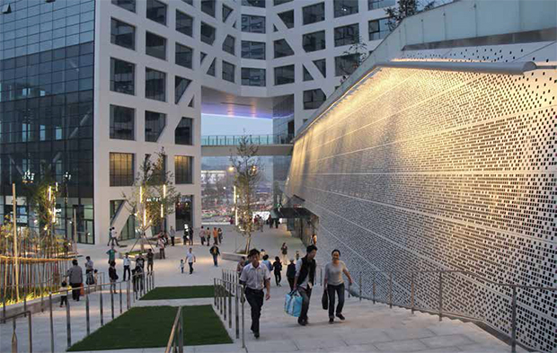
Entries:
[[[223,226],[221,226],[223,227]],[[224,242],[220,246],[221,252],[233,252],[243,243],[242,236],[236,234],[229,225],[225,229]],[[155,260],[155,287],[165,286],[195,286],[213,284],[213,278],[220,278],[221,269],[235,269],[234,261],[219,260],[219,267],[213,266],[207,246],[199,244],[199,237],[195,234],[193,252],[197,262],[194,273],[187,271],[180,273],[179,262],[188,247],[178,244],[166,248],[166,260]],[[281,227],[278,230],[265,228],[263,233],[256,233],[252,238],[252,247],[265,249],[272,258],[279,255],[282,243],[289,247],[288,257],[294,252],[303,251],[303,244]],[[128,241],[128,243],[130,243]],[[104,245],[104,244],[102,244]],[[131,246],[128,246],[128,249]],[[107,255],[105,246],[82,246],[80,253],[92,256],[95,267],[100,271],[107,271]],[[125,252],[126,248],[119,249]],[[80,260],[83,265],[84,260]],[[117,260],[119,277],[122,278],[121,260]],[[186,267],[187,269],[187,267]],[[438,317],[427,313],[412,314],[409,310],[389,309],[385,304],[372,304],[367,300],[361,302],[358,298],[347,298],[343,313],[347,317],[345,322],[328,323],[328,316],[321,308],[322,287],[314,288],[313,300],[309,313],[310,323],[301,327],[296,318],[284,313],[284,296],[288,291],[286,280],[286,266],[283,270],[283,287],[276,287],[272,278],[271,299],[265,302],[261,314],[261,338],[256,340],[249,331],[250,309],[245,305],[246,349],[242,349],[241,340],[234,340],[234,329],[229,331],[233,344],[215,346],[186,347],[188,352],[469,352],[469,353],[507,353],[510,347],[489,333],[482,331],[472,322],[461,322],[445,318],[438,322]],[[104,297],[105,322],[110,317],[110,296]],[[92,303],[92,331],[100,327],[98,315],[98,295],[91,297]],[[72,304],[72,340],[76,342],[85,335],[84,302]],[[107,305],[108,304],[108,305]],[[212,298],[137,301],[134,306],[145,305],[194,305],[213,304]],[[97,305],[97,306],[95,306]],[[116,299],[116,314],[119,313],[119,302]],[[125,307],[125,298],[124,298]],[[108,309],[107,309],[108,308]],[[95,311],[96,310],[96,311]],[[93,314],[96,313],[96,314]],[[55,343],[56,351],[66,349],[66,311],[56,307],[55,314]],[[48,313],[33,314],[33,351],[49,352],[49,316]],[[20,350],[26,349],[26,323],[18,321],[18,337]],[[234,328],[234,326],[233,326]],[[0,325],[0,352],[10,351],[12,325]],[[525,351],[518,349],[518,351]],[[99,352],[99,351],[97,351]],[[160,349],[119,349],[103,352],[138,353],[164,352]]]

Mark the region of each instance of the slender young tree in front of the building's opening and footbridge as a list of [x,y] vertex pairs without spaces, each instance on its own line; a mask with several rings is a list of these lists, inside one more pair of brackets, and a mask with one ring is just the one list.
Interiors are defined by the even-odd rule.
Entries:
[[247,253],[252,243],[252,233],[255,231],[253,225],[253,207],[255,205],[255,188],[261,178],[261,165],[257,153],[259,148],[254,146],[249,137],[244,135],[240,139],[240,145],[236,147],[236,156],[230,156],[230,162],[234,167],[234,186],[238,202],[239,231],[246,240],[245,252]]

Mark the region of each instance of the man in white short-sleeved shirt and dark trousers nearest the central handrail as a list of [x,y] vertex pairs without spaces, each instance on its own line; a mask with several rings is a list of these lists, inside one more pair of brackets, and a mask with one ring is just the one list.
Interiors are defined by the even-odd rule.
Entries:
[[245,286],[245,298],[252,307],[252,332],[259,339],[259,318],[263,306],[263,287],[267,290],[266,300],[270,299],[270,272],[259,261],[260,252],[252,249],[248,256],[252,263],[245,266],[240,276],[240,283]]

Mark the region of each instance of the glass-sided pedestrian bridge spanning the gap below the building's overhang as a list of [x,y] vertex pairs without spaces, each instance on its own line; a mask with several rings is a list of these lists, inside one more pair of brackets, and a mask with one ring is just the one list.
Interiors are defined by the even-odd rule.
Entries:
[[291,155],[291,134],[279,135],[208,135],[201,137],[201,156],[223,157],[237,154],[243,139],[258,147],[258,155]]

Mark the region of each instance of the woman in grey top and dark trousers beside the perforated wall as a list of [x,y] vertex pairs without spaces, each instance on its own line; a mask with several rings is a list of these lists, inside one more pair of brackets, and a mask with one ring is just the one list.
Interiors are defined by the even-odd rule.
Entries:
[[339,304],[337,304],[336,316],[340,320],[344,320],[345,317],[342,315],[342,307],[344,306],[344,279],[342,274],[344,273],[347,278],[349,278],[349,286],[352,285],[352,277],[346,264],[340,260],[340,251],[335,249],[331,253],[332,261],[325,266],[325,280],[324,286],[327,288],[327,294],[329,295],[329,323],[334,322],[334,300],[335,292],[339,296]]

